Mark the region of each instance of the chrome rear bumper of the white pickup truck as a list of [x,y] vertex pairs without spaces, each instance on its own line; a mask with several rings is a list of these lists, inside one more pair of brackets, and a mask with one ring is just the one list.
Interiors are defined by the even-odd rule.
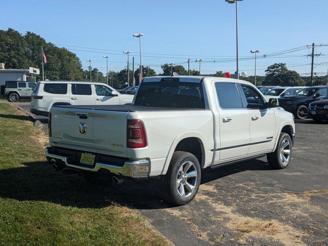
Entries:
[[149,176],[149,171],[150,171],[149,160],[136,160],[136,161],[129,160],[126,161],[122,167],[109,165],[107,163],[96,162],[94,167],[88,168],[88,167],[81,167],[68,163],[67,157],[49,153],[49,148],[50,147],[47,147],[45,149],[47,160],[50,162],[57,162],[57,160],[61,160],[61,162],[64,163],[64,165],[67,168],[89,171],[89,172],[97,172],[100,169],[106,169],[113,174],[132,177],[132,178],[146,178]]

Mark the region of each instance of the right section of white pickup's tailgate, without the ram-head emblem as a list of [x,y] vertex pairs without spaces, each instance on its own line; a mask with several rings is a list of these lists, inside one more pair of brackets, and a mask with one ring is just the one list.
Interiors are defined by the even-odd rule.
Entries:
[[92,111],[93,139],[97,153],[127,157],[126,111]]

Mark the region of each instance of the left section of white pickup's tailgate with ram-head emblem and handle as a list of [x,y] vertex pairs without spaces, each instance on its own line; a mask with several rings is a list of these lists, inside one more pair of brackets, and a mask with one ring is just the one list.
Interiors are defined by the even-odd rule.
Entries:
[[92,109],[53,107],[51,115],[54,146],[96,152]]

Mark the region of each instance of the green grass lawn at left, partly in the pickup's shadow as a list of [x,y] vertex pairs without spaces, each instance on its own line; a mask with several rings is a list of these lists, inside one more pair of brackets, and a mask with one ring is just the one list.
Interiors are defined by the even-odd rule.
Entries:
[[[0,103],[0,245],[167,245],[106,189],[45,161],[43,133]],[[44,136],[43,136],[44,138]]]

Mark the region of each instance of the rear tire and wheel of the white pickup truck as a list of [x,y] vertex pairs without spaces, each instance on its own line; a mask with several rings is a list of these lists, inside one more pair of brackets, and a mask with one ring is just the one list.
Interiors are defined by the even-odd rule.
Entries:
[[[190,164],[191,163],[191,164]],[[187,169],[187,165],[191,165]],[[182,173],[181,173],[182,166]],[[186,172],[184,172],[187,169]],[[190,172],[188,172],[190,171]],[[191,174],[193,171],[196,171],[196,177],[187,177],[187,174]],[[194,174],[194,173],[193,173]],[[161,196],[164,200],[175,204],[183,205],[189,203],[197,194],[201,179],[201,170],[198,159],[189,152],[176,151],[173,153],[168,172],[166,173],[163,180],[160,183]],[[177,185],[177,182],[182,182],[180,185]],[[190,192],[190,184],[193,184],[192,191]],[[182,185],[184,184],[184,185]],[[185,194],[185,197],[179,193],[181,191],[180,186],[183,186],[182,194]],[[188,187],[185,188],[184,187]],[[178,191],[179,189],[179,191]]]

